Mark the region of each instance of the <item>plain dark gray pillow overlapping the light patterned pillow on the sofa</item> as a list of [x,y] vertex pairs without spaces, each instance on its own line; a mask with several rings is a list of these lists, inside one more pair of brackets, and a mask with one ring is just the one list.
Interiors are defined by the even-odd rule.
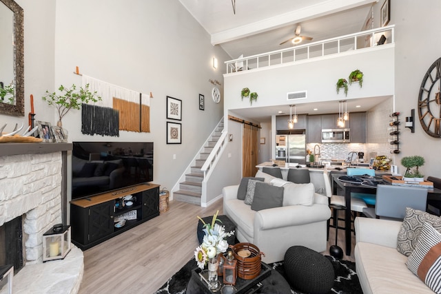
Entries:
[[283,204],[283,190],[283,187],[276,187],[265,182],[256,182],[251,209],[259,211],[262,209],[281,207]]

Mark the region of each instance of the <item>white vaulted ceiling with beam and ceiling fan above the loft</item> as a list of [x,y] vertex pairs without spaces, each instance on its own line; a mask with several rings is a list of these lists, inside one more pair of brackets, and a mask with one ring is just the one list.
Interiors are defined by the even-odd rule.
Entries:
[[[377,0],[179,0],[232,59],[289,48],[300,35],[313,41],[359,32]],[[234,14],[232,2],[236,2]],[[303,41],[302,43],[306,43]]]

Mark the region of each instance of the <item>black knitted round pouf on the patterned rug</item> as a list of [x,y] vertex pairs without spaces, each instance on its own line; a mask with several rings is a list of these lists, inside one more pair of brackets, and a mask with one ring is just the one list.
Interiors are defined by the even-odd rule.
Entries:
[[305,246],[291,246],[285,253],[288,282],[305,293],[328,293],[334,285],[334,267],[320,253]]

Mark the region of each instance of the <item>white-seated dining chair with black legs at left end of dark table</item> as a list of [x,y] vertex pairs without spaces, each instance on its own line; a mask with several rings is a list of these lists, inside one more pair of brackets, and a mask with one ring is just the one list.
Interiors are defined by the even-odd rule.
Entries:
[[[326,169],[323,171],[323,181],[325,182],[325,196],[329,198],[329,207],[334,211],[332,225],[328,222],[327,235],[329,236],[329,227],[337,228],[338,211],[346,210],[346,200],[345,196],[334,195],[332,193],[331,180],[329,179],[329,174]],[[351,211],[362,213],[365,208],[367,208],[367,205],[362,199],[351,197]],[[353,218],[355,218],[355,216],[353,216]],[[338,229],[345,228],[339,227]]]

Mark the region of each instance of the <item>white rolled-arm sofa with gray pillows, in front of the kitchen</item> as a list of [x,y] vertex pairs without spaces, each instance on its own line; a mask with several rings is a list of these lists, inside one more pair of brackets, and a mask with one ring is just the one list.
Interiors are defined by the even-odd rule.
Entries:
[[328,198],[314,193],[314,187],[310,205],[289,205],[285,199],[284,206],[259,211],[237,198],[238,187],[223,188],[223,211],[236,224],[239,242],[252,243],[265,253],[263,262],[282,261],[287,249],[294,245],[318,252],[327,249],[327,220],[331,210]]

